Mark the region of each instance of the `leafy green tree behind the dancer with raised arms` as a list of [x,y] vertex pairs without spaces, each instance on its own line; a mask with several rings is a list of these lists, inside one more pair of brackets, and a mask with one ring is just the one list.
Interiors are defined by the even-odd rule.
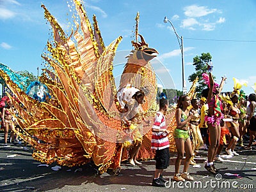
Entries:
[[207,62],[212,59],[210,53],[202,53],[200,56],[196,55],[193,58],[193,66],[195,66],[195,73],[189,75],[188,80],[189,82],[193,82],[196,77],[198,77],[198,85],[196,86],[196,92],[200,95],[201,92],[207,88],[207,85],[204,84],[204,80],[202,79],[202,74],[207,73]]

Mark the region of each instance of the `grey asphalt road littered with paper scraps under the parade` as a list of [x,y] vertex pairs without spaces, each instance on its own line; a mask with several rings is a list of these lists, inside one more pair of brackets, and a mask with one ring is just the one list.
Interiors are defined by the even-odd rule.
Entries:
[[[51,168],[56,164],[44,166],[31,157],[32,150],[25,151],[22,144],[3,146],[3,133],[0,133],[0,191],[256,191],[255,146],[252,151],[237,149],[239,156],[216,163],[216,168],[220,168],[217,176],[204,169],[207,151],[200,151],[196,161],[201,167],[189,167],[195,181],[180,184],[171,181],[168,188],[151,186],[154,160],[145,161],[141,166],[124,163],[117,176],[97,175],[92,165],[63,166],[54,171]],[[174,174],[175,154],[171,157],[170,166],[164,171],[165,179]]]

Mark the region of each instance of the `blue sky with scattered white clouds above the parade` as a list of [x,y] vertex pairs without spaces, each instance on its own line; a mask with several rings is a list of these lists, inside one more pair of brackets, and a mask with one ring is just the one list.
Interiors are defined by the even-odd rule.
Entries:
[[[14,71],[28,70],[37,74],[43,68],[40,55],[49,39],[50,27],[44,19],[45,4],[65,31],[70,0],[0,0],[0,63]],[[105,45],[118,36],[123,40],[118,51],[131,50],[136,13],[140,12],[139,32],[150,47],[159,52],[153,66],[159,78],[168,77],[165,87],[182,89],[182,64],[179,43],[172,26],[164,24],[164,16],[172,21],[179,36],[184,37],[185,76],[195,72],[193,57],[209,52],[214,75],[228,77],[223,91],[232,91],[233,77],[248,82],[242,89],[253,92],[256,82],[256,1],[84,1],[89,18],[97,16]],[[67,20],[68,17],[68,20]],[[92,21],[92,20],[91,20]],[[168,71],[168,75],[166,75]],[[187,82],[187,87],[190,83]]]

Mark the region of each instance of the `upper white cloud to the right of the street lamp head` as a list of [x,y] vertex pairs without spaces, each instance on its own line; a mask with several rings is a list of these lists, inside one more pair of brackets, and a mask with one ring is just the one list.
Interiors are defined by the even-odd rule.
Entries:
[[184,14],[187,17],[202,17],[205,15],[209,15],[211,13],[216,12],[216,9],[209,9],[207,6],[197,6],[197,5],[191,5],[191,6],[186,6],[184,8]]

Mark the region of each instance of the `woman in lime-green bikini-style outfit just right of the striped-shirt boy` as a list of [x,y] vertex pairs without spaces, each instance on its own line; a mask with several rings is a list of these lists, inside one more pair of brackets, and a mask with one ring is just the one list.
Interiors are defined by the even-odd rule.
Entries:
[[[175,119],[177,127],[173,132],[177,149],[177,159],[175,161],[175,175],[173,180],[175,181],[193,181],[193,177],[189,175],[188,168],[190,158],[192,157],[192,145],[189,137],[189,121],[191,121],[193,115],[189,114],[190,98],[187,95],[179,97],[177,108],[175,111]],[[184,162],[183,173],[180,174],[180,163],[184,158],[184,152],[186,152],[186,159]]]

